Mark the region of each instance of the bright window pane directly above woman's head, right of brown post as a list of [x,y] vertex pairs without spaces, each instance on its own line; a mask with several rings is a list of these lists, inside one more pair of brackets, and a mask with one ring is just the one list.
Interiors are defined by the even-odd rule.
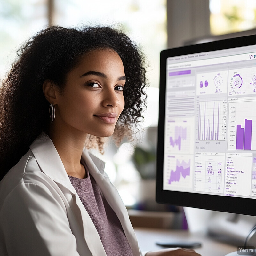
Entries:
[[166,0],[55,0],[53,23],[61,26],[111,24],[143,47],[148,79],[158,87],[160,51],[166,48]]

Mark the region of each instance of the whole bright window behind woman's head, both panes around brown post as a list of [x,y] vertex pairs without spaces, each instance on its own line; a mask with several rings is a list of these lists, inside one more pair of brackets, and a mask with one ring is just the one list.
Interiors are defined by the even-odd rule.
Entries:
[[148,79],[151,86],[158,87],[159,55],[167,44],[166,0],[150,4],[147,0],[6,0],[0,2],[0,21],[2,77],[20,44],[49,23],[64,27],[112,24],[143,47]]

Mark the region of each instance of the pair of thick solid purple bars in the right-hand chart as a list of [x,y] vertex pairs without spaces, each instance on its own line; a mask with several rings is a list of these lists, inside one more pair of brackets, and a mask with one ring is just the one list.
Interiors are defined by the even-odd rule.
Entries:
[[236,149],[252,149],[252,120],[244,120],[244,128],[241,124],[236,125]]

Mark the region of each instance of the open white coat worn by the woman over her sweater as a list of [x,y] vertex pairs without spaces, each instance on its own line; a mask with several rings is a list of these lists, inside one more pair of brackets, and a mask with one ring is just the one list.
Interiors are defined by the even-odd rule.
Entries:
[[[86,149],[82,160],[116,212],[133,255],[142,255],[127,210],[104,174],[105,163]],[[46,134],[30,145],[28,153],[0,182],[0,255],[106,256],[100,236]]]

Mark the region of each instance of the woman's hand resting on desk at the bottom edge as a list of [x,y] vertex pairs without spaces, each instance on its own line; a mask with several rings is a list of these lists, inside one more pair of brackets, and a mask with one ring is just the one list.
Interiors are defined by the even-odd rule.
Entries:
[[145,256],[201,256],[192,249],[168,248],[146,253]]

